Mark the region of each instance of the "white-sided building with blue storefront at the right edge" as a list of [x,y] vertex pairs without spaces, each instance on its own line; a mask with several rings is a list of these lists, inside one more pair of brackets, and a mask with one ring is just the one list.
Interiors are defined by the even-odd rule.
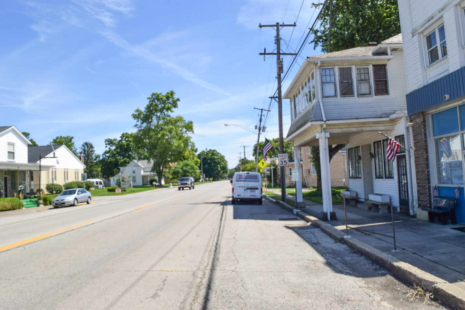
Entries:
[[[465,1],[399,0],[419,206],[455,198],[465,223]],[[427,212],[418,210],[427,219]]]

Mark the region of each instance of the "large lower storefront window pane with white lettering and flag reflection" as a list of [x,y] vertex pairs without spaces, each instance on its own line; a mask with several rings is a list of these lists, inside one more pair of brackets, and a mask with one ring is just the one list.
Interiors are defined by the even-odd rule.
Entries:
[[434,145],[438,158],[439,184],[463,184],[462,151],[459,135],[434,139]]

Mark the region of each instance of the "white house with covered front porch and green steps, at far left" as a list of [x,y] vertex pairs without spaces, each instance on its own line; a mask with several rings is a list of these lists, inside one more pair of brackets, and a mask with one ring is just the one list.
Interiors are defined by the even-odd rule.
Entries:
[[[28,161],[30,144],[15,126],[0,127],[0,198],[34,190],[33,173],[39,172],[39,165]],[[50,168],[42,165],[42,170]]]

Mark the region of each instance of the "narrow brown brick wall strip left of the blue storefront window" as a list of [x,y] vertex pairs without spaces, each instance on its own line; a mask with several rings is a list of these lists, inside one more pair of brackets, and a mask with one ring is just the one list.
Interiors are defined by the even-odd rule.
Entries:
[[426,139],[425,113],[410,115],[413,122],[413,141],[415,145],[415,167],[417,174],[418,206],[429,207],[431,204],[431,180]]

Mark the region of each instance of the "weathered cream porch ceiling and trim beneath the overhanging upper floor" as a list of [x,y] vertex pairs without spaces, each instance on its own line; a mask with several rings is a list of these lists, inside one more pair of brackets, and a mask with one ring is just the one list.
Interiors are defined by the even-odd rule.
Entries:
[[[295,146],[312,146],[319,145],[318,139],[315,138],[316,134],[320,131],[321,125],[312,125],[308,129],[299,132],[299,134],[286,139],[286,141],[293,141]],[[385,120],[379,122],[361,122],[361,123],[338,123],[326,124],[325,132],[329,132],[329,144],[347,144],[348,139],[361,132],[379,132],[379,131],[392,131],[394,129],[393,120]]]

